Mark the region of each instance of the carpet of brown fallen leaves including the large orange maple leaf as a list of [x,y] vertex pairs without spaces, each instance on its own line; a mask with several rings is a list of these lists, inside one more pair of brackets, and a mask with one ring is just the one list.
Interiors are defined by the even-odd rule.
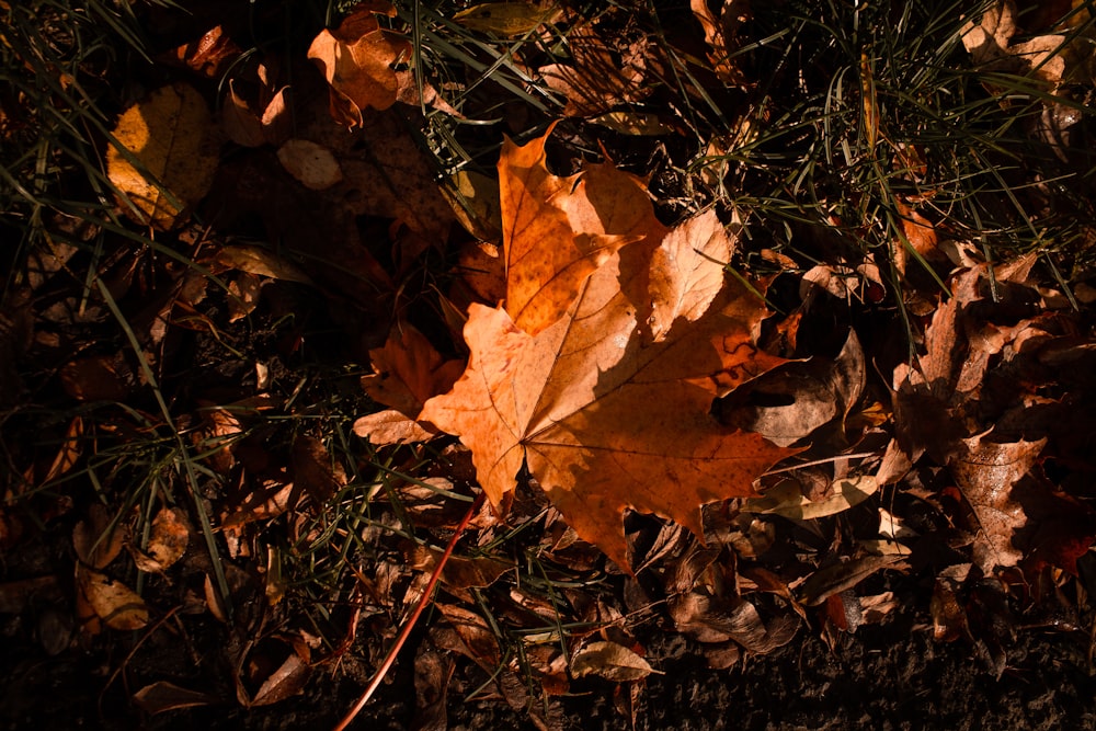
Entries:
[[[683,93],[706,93],[705,75],[752,92],[749,3],[689,12],[697,77]],[[728,201],[669,215],[664,181],[618,164],[628,145],[580,122],[641,119],[664,99],[675,61],[615,18],[533,3],[455,16],[517,46],[563,31],[571,44],[563,59],[515,52],[570,121],[500,140],[487,174],[423,155],[436,128],[422,113],[463,119],[476,102],[418,66],[387,2],[319,32],[312,66],[249,60],[220,24],[169,54],[194,85],[122,113],[107,173],[117,210],[202,269],[55,243],[28,278],[33,305],[5,304],[4,342],[42,373],[4,398],[58,384],[80,415],[11,456],[0,545],[25,545],[36,528],[9,506],[33,502],[70,526],[72,571],[5,573],[4,612],[70,614],[39,625],[50,654],[124,644],[126,696],[149,715],[288,704],[323,673],[364,684],[482,491],[490,506],[406,658],[419,728],[445,728],[455,694],[560,728],[561,699],[595,678],[635,726],[643,688],[682,653],[652,635],[688,638],[713,669],[804,633],[836,648],[899,613],[903,576],[933,586],[933,637],[969,643],[998,676],[1021,624],[1081,627],[1096,537],[1087,311],[1036,254],[983,262],[934,222],[933,192],[891,202],[893,261],[757,252],[755,214]],[[1086,61],[1063,50],[1069,24],[1018,18],[1012,2],[987,9],[962,44],[983,72],[1043,84],[1027,132],[1062,156]],[[653,117],[655,136],[681,129]],[[920,155],[895,151],[899,178],[917,182]],[[553,172],[561,157],[570,174]],[[677,193],[713,179],[689,180]],[[84,277],[105,294],[81,294]],[[912,351],[872,329],[899,322],[880,292],[904,298]],[[135,347],[101,340],[112,308]],[[198,372],[181,376],[187,357]],[[119,500],[134,481],[137,499]],[[175,631],[216,638],[202,664],[216,682],[141,664],[146,641]]]

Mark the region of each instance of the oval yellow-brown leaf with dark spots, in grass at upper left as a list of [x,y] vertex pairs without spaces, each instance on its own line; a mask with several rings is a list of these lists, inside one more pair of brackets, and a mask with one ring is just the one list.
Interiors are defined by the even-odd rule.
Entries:
[[122,149],[106,150],[107,174],[138,222],[170,229],[209,192],[220,142],[193,87],[157,89],[125,111],[113,134]]

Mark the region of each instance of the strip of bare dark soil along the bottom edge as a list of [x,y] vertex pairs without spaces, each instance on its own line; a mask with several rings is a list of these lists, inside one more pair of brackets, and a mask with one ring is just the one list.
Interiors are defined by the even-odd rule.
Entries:
[[[827,647],[801,629],[796,640],[745,666],[713,671],[682,635],[649,638],[648,660],[661,674],[638,688],[631,712],[629,684],[574,684],[558,708],[564,729],[1091,729],[1096,728],[1096,678],[1086,660],[1083,632],[1028,630],[1006,648],[1007,663],[995,677],[968,641],[932,638],[926,613],[905,612]],[[21,635],[18,620],[3,631]],[[18,644],[14,642],[13,644]],[[332,728],[353,705],[362,685],[351,674],[313,678],[305,695],[263,708],[202,707],[140,717],[121,683],[104,695],[103,658],[66,651],[49,658],[39,649],[9,644],[2,661],[5,692],[0,723],[30,728],[302,729]],[[410,655],[410,651],[408,656]],[[400,663],[351,728],[398,731],[446,728],[415,726],[410,663]],[[530,717],[501,700],[465,703],[459,676],[450,684],[448,729],[536,729]]]

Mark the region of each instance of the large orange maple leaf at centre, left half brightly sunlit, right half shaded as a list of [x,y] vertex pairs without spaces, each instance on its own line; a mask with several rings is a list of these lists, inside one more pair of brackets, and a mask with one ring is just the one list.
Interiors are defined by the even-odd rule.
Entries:
[[[703,218],[686,225],[692,240],[729,253],[715,214]],[[707,237],[698,236],[704,226]],[[698,300],[665,299],[684,290],[682,278],[722,277],[715,258],[677,255],[677,238],[666,237],[657,256],[638,243],[612,254],[535,335],[501,307],[472,305],[468,368],[420,414],[469,447],[496,507],[526,465],[575,533],[625,569],[626,509],[703,535],[703,504],[754,494],[757,475],[797,452],[710,414],[715,397],[785,361],[753,343],[766,311],[738,279]],[[649,323],[655,310],[655,322],[669,323],[658,335]]]

